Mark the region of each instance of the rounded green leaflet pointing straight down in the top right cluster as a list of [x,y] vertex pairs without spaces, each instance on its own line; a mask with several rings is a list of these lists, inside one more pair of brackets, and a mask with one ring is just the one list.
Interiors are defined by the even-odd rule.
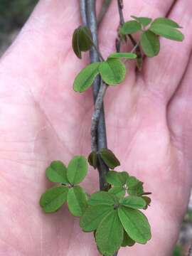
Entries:
[[159,54],[159,37],[151,31],[145,31],[141,36],[141,45],[147,57],[154,57]]

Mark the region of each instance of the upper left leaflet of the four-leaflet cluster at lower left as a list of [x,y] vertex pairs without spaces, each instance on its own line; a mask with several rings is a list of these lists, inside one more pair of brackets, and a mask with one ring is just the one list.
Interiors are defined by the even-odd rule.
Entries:
[[67,168],[61,161],[53,161],[46,169],[46,176],[52,182],[69,183]]

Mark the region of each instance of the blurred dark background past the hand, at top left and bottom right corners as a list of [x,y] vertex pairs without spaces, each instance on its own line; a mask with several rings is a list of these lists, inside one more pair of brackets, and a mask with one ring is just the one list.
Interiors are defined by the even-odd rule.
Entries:
[[[0,0],[0,56],[11,45],[38,0]],[[186,256],[192,243],[192,197],[171,256]]]

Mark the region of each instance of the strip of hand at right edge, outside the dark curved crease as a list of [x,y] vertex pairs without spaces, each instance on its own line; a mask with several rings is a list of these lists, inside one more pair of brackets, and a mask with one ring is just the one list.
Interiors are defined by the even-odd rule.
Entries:
[[171,131],[171,139],[176,148],[183,152],[186,166],[186,179],[192,182],[192,55],[188,64],[188,69],[178,88],[176,95],[171,100],[168,107],[168,125]]

